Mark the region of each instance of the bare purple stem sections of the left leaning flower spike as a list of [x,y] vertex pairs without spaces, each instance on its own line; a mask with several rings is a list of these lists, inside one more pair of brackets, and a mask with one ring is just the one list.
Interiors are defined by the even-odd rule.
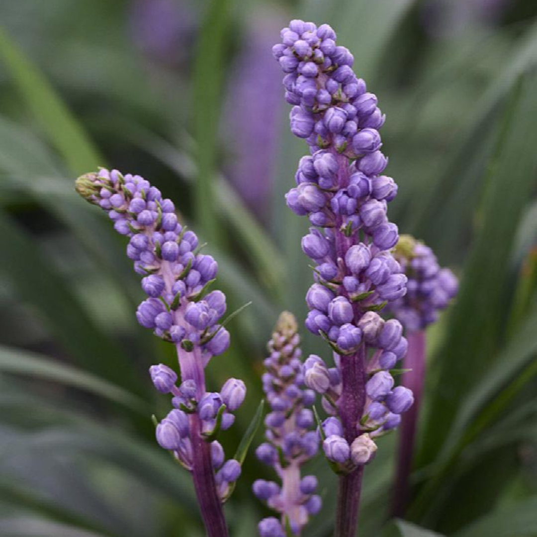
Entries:
[[[205,375],[198,349],[195,347],[193,352],[186,352],[180,345],[177,345],[177,355],[182,380],[193,379],[196,382],[199,401],[205,393]],[[195,412],[190,415],[190,431],[193,455],[192,480],[207,536],[228,537],[222,502],[217,494],[214,481],[211,446],[201,435],[201,421]]]

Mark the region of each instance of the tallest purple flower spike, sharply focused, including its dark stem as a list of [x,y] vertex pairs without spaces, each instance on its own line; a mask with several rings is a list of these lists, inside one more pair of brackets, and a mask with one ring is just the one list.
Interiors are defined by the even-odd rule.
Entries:
[[286,73],[291,130],[311,151],[286,195],[287,205],[315,226],[302,239],[316,265],[306,326],[329,343],[336,364],[311,356],[304,380],[333,416],[323,424],[323,449],[342,474],[336,536],[350,537],[375,439],[412,404],[410,390],[394,389],[390,374],[407,350],[402,326],[378,313],[406,293],[407,277],[390,253],[397,226],[386,215],[397,185],[382,175],[388,159],[380,151],[378,99],[354,74],[353,56],[336,45],[332,28],[293,20],[281,40],[273,54]]

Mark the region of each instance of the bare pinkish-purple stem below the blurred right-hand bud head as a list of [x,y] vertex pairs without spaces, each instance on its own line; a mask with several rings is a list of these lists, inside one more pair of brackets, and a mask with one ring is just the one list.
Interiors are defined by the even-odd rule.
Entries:
[[412,390],[414,404],[403,414],[400,426],[397,471],[391,514],[403,517],[409,501],[409,477],[412,469],[412,455],[416,439],[416,425],[425,381],[425,332],[411,332],[407,335],[408,351],[404,367],[412,369],[402,376],[402,384]]

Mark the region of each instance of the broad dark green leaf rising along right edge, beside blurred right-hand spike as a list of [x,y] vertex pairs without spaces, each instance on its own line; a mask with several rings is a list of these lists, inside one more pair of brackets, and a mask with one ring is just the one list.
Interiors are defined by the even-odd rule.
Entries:
[[[483,195],[480,227],[450,318],[449,337],[437,361],[440,389],[434,393],[424,432],[425,459],[436,456],[461,397],[481,379],[502,335],[505,304],[509,303],[505,259],[511,252],[537,166],[531,142],[537,136],[535,91],[537,76],[521,79],[505,112]],[[516,184],[516,188],[505,188],[506,181]]]

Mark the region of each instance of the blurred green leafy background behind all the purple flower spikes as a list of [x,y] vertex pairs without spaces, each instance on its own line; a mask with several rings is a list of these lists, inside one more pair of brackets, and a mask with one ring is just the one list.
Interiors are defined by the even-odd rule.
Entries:
[[[198,537],[186,473],[158,448],[166,397],[147,368],[172,349],[135,322],[125,244],[73,180],[97,165],[149,178],[219,260],[233,344],[218,388],[261,397],[283,308],[304,317],[306,223],[282,196],[288,132],[270,49],[289,18],[335,27],[380,100],[390,220],[462,278],[429,332],[407,521],[388,521],[395,437],[365,474],[360,535],[537,535],[537,4],[528,0],[19,0],[0,3],[0,534]],[[326,354],[303,334],[304,351]],[[328,537],[335,479],[319,458]],[[250,454],[227,512],[262,516]],[[427,528],[427,529],[425,529]]]

